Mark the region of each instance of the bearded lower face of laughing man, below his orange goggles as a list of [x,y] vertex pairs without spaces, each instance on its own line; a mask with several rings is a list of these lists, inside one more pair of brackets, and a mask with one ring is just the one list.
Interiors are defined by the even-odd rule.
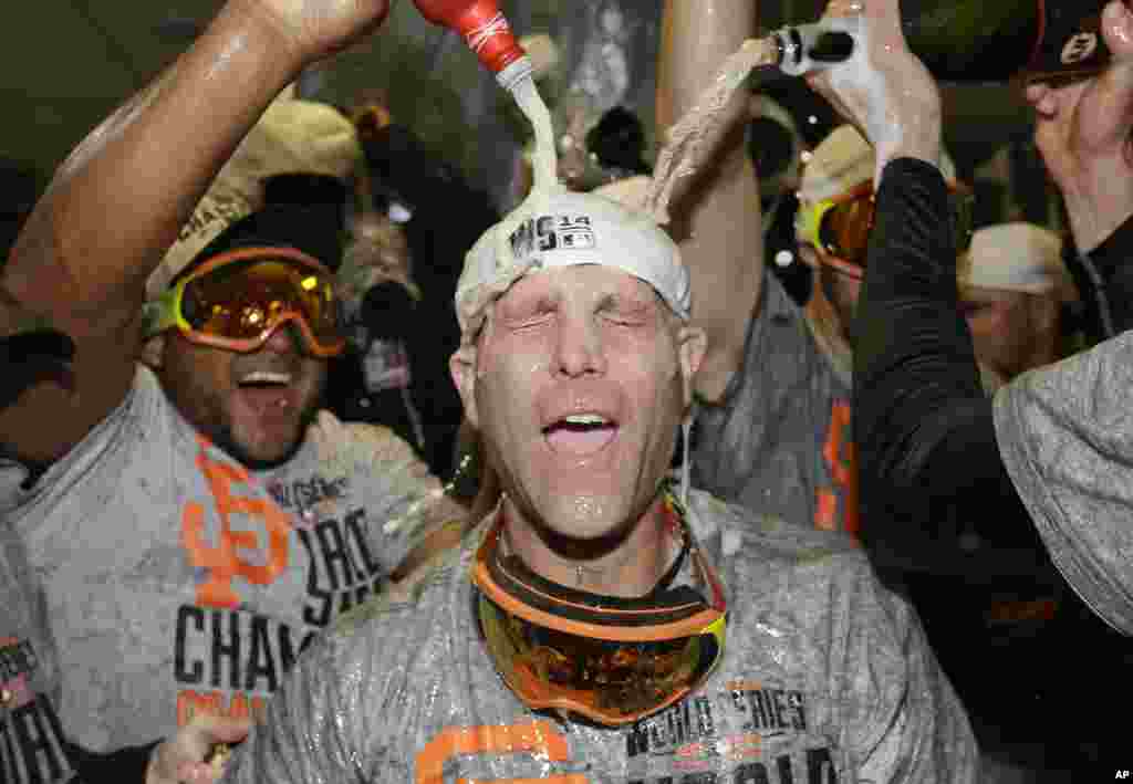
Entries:
[[256,351],[241,353],[165,335],[159,369],[165,394],[213,443],[249,468],[290,458],[314,419],[326,361],[303,352],[284,324]]

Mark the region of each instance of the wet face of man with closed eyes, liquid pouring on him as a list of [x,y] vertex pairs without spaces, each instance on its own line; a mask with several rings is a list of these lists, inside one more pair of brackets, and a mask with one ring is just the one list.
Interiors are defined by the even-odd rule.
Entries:
[[554,534],[627,530],[667,472],[704,353],[647,283],[606,266],[525,276],[453,377],[513,509]]

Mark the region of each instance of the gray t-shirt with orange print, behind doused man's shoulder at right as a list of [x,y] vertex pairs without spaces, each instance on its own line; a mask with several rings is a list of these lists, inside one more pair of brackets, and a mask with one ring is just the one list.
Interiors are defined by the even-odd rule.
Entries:
[[770,272],[760,297],[723,400],[697,406],[692,483],[791,522],[857,532],[850,370],[838,372]]

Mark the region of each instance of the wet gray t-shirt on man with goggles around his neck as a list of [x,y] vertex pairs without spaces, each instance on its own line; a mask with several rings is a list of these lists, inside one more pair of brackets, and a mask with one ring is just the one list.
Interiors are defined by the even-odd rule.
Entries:
[[534,713],[496,674],[468,577],[480,526],[300,659],[223,782],[972,782],[966,716],[910,607],[840,534],[693,492],[731,589],[724,659],[624,727]]

